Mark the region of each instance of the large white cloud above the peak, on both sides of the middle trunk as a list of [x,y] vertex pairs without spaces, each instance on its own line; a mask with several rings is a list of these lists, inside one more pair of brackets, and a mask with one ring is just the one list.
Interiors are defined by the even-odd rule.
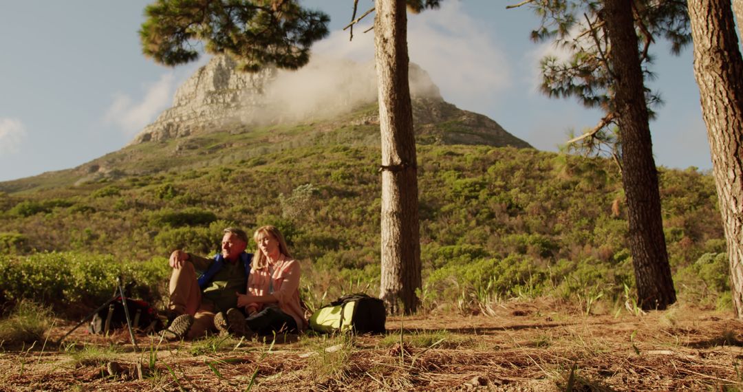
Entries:
[[[374,14],[348,30],[337,30],[317,42],[313,52],[329,58],[366,62],[374,59]],[[510,65],[484,22],[473,19],[458,1],[445,1],[439,10],[409,14],[410,61],[421,65],[448,102],[471,111],[487,111],[510,87]]]

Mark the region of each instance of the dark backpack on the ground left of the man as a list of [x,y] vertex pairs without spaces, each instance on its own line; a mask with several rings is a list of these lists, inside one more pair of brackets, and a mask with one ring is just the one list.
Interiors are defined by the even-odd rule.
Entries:
[[[126,298],[126,307],[129,310],[129,318],[132,321],[133,330],[161,330],[162,321],[158,318],[158,311],[149,306],[146,301]],[[89,333],[106,333],[108,331],[126,327],[126,313],[121,297],[114,298],[108,307],[103,307],[93,315],[88,325]]]

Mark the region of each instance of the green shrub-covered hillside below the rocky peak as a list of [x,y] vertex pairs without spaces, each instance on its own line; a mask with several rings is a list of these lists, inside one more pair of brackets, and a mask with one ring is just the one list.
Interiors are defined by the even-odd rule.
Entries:
[[[163,287],[152,282],[165,281],[162,267],[172,249],[213,253],[225,226],[251,230],[266,223],[285,232],[303,261],[306,296],[374,293],[378,129],[349,125],[373,111],[334,122],[227,126],[0,184],[0,298],[26,295],[9,281],[33,274],[17,271],[50,265],[56,272],[38,278],[38,290],[59,275],[80,276],[45,298],[61,304],[81,290],[105,298],[110,293],[101,276],[113,272],[91,267],[98,264],[116,264],[114,270],[148,282],[145,292],[161,295]],[[519,295],[557,295],[585,306],[591,298],[611,302],[632,295],[626,292],[634,276],[616,166],[532,148],[441,144],[452,128],[461,134],[465,125],[427,125],[435,140],[418,146],[424,309],[476,312],[493,298]],[[677,290],[727,306],[713,178],[695,169],[660,173]],[[614,200],[618,216],[612,215]],[[91,273],[106,289],[81,286],[95,280]]]

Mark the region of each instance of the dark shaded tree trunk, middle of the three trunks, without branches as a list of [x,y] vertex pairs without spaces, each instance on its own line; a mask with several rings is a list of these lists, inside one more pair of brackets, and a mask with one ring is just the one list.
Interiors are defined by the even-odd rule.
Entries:
[[627,197],[637,301],[645,310],[665,309],[676,301],[676,293],[663,236],[658,171],[652,157],[632,0],[606,0],[604,12],[611,42],[614,100],[622,147],[622,182]]

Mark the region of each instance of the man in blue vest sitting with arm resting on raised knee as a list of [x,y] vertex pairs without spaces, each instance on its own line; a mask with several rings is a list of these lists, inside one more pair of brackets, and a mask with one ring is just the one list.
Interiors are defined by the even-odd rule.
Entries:
[[[241,229],[224,229],[221,253],[202,258],[177,249],[170,255],[170,302],[172,322],[163,331],[166,339],[194,339],[214,330],[218,312],[237,307],[237,293],[244,294],[250,261],[245,253],[247,235]],[[198,272],[203,272],[198,275]]]

